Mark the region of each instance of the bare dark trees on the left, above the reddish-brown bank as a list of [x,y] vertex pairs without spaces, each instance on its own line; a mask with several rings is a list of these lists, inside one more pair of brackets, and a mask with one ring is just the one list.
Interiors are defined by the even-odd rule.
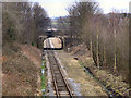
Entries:
[[2,3],[3,45],[19,41],[40,47],[39,35],[44,34],[50,19],[39,3]]

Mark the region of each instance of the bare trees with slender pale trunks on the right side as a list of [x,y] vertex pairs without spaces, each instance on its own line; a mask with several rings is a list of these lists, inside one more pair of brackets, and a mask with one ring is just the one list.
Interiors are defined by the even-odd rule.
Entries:
[[68,12],[70,24],[68,30],[70,42],[68,44],[74,45],[75,36],[79,40],[76,44],[86,45],[99,70],[120,74],[126,82],[129,82],[130,14],[116,10],[104,14],[98,3],[91,1],[76,2],[68,9]]

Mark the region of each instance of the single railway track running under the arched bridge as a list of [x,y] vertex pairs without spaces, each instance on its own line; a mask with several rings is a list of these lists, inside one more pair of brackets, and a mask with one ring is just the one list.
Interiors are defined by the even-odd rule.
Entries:
[[[46,47],[51,48],[49,39],[46,42]],[[53,50],[47,50],[47,54],[48,54],[49,65],[50,65],[51,75],[52,75],[55,96],[72,97],[73,93],[71,91],[69,84],[64,79],[63,73],[60,69],[60,63],[56,59]]]

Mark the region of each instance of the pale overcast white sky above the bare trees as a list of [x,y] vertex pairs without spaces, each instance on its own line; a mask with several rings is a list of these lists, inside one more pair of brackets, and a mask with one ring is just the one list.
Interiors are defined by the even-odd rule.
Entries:
[[[32,0],[39,2],[39,4],[47,11],[50,17],[68,15],[66,10],[68,7],[79,0]],[[83,0],[85,1],[85,0]],[[109,13],[112,9],[119,11],[129,12],[130,0],[95,0],[99,2],[99,7],[104,13]]]

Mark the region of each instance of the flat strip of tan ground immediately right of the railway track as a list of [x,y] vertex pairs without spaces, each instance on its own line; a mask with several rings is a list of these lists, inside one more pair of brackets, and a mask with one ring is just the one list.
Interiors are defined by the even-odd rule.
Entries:
[[[56,46],[59,45],[59,42],[56,41],[52,41],[52,44]],[[63,69],[67,71],[69,78],[72,78],[75,83],[80,84],[80,91],[83,96],[107,96],[102,87],[83,71],[78,60],[70,53],[60,50],[57,51],[57,54]]]

